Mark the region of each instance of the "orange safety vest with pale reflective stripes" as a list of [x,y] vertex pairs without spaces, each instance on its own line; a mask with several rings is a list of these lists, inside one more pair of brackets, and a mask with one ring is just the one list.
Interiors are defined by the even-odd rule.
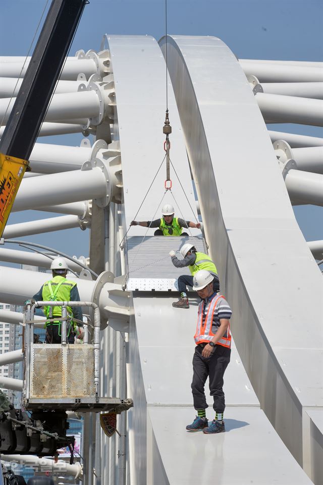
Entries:
[[[216,335],[212,333],[212,323],[213,323],[213,314],[216,309],[218,301],[223,298],[222,295],[216,295],[210,301],[204,324],[203,324],[203,308],[204,308],[204,300],[198,305],[198,314],[197,314],[197,326],[196,332],[194,335],[194,340],[196,345],[201,344],[203,342],[210,342],[212,338]],[[226,332],[227,337],[225,335],[217,342],[216,345],[222,345],[223,347],[227,347],[228,349],[231,348],[231,333],[230,333],[230,323],[228,330]]]

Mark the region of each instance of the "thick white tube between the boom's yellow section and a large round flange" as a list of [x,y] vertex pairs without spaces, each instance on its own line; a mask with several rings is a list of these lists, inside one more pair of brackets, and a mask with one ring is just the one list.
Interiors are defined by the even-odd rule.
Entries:
[[106,195],[107,184],[99,168],[75,170],[64,174],[43,175],[41,184],[37,177],[22,180],[13,206],[13,212],[88,200]]

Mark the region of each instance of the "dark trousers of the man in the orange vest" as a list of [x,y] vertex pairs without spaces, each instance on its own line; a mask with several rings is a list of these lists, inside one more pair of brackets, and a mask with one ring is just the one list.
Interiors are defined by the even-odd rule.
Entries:
[[230,362],[231,349],[216,345],[207,358],[202,357],[203,348],[196,345],[193,355],[193,382],[191,385],[194,409],[206,409],[204,384],[209,379],[210,395],[213,396],[213,409],[223,413],[226,407],[223,392],[223,375]]

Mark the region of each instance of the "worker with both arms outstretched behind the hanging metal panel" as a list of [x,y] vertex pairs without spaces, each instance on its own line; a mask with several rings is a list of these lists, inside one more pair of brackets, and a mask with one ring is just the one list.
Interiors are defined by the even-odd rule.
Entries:
[[154,236],[188,236],[186,232],[182,232],[182,228],[197,228],[200,229],[202,224],[190,221],[184,221],[174,217],[175,211],[171,204],[165,204],[161,209],[163,217],[160,219],[155,219],[154,221],[131,221],[130,226],[142,226],[142,227],[157,227],[154,232]]

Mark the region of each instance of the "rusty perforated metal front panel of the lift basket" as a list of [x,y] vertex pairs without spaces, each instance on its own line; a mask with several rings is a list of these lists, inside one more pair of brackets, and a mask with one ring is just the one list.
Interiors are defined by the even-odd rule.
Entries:
[[92,345],[33,344],[30,369],[30,398],[95,395]]

